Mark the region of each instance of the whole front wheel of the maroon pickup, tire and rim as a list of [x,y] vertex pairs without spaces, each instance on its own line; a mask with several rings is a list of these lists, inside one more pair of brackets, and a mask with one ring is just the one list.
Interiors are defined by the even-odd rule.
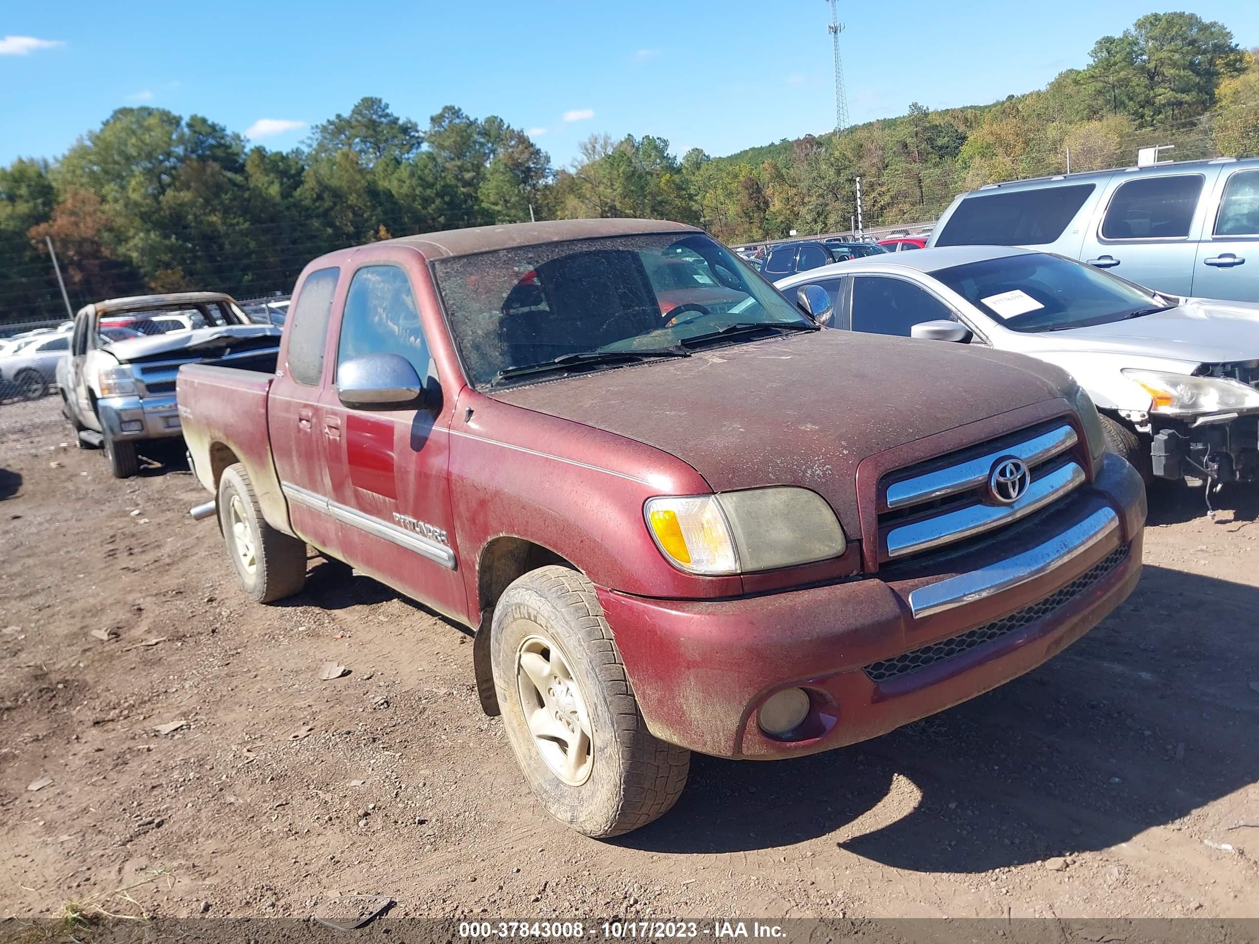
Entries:
[[564,566],[530,571],[490,632],[507,740],[543,808],[596,838],[669,812],[690,751],[647,730],[594,585]]

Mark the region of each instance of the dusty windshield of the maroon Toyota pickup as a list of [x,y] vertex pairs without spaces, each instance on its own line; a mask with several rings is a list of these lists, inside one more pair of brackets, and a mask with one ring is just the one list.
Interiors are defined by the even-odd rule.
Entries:
[[433,273],[478,386],[569,355],[647,355],[724,329],[719,340],[733,344],[763,337],[755,326],[813,327],[703,233],[524,245],[437,259]]

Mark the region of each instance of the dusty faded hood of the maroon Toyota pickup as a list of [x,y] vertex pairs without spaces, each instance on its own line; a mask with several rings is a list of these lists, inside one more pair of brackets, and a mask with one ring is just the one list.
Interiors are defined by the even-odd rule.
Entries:
[[856,535],[864,458],[1061,396],[1065,376],[987,347],[827,330],[491,395],[671,453],[714,491],[812,488]]

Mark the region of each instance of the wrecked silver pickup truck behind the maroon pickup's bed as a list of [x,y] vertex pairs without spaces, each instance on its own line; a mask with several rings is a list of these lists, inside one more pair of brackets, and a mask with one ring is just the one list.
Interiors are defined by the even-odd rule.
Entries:
[[62,413],[81,448],[103,447],[110,472],[140,469],[136,446],[183,434],[175,374],[184,364],[274,370],[279,329],[256,325],[228,295],[113,298],[82,308],[57,365]]

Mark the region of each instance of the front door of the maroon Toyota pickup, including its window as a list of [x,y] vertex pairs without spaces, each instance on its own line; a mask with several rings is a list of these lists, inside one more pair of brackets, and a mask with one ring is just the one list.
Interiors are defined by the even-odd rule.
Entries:
[[336,362],[369,354],[405,357],[436,402],[431,409],[351,409],[331,391],[325,407],[331,500],[342,559],[434,609],[458,614],[467,594],[457,573],[447,467],[451,405],[441,403],[415,293],[407,272],[365,264],[350,282]]

